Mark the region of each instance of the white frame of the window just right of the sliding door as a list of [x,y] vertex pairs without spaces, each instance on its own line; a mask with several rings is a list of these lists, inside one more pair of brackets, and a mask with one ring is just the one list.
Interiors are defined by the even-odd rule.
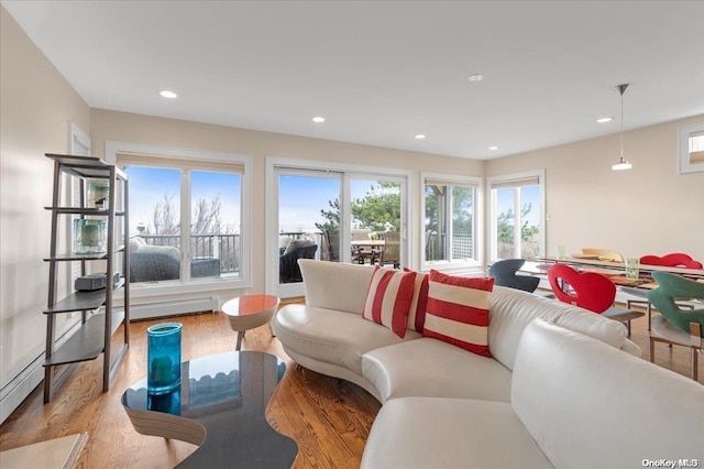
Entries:
[[[450,186],[472,186],[474,187],[475,200],[473,203],[473,220],[472,220],[472,252],[474,258],[470,260],[439,260],[428,261],[426,259],[426,186],[428,182],[441,182]],[[420,173],[420,269],[429,271],[435,269],[438,271],[462,271],[473,270],[482,266],[484,261],[484,178],[479,176],[460,176],[444,173]],[[450,248],[451,249],[451,248]]]

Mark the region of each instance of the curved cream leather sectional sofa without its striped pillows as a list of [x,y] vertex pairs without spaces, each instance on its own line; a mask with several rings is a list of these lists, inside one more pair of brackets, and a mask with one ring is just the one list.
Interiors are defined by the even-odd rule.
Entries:
[[363,319],[372,268],[299,264],[306,305],[282,308],[274,329],[297,363],[384,404],[362,467],[704,460],[704,386],[637,358],[620,323],[497,286],[486,358]]

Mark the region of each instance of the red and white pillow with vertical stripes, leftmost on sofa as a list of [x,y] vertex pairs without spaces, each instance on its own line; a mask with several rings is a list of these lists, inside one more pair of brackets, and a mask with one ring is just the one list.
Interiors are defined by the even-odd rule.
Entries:
[[415,279],[414,272],[374,268],[362,317],[388,327],[403,339]]

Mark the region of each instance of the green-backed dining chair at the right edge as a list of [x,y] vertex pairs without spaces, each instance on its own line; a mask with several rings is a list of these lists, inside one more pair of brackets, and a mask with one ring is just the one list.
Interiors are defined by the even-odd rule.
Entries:
[[653,272],[658,287],[648,299],[660,312],[652,317],[650,329],[650,361],[654,362],[654,343],[664,342],[692,350],[692,379],[697,379],[697,353],[702,351],[704,303],[698,309],[682,309],[676,301],[704,299],[704,283],[694,282],[668,272]]

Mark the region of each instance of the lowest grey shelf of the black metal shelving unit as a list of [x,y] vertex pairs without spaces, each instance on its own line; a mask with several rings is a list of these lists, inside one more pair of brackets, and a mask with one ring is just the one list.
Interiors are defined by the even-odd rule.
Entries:
[[[105,294],[102,295],[105,297]],[[44,367],[95,360],[105,347],[105,316],[95,315],[70,339],[44,360]]]

